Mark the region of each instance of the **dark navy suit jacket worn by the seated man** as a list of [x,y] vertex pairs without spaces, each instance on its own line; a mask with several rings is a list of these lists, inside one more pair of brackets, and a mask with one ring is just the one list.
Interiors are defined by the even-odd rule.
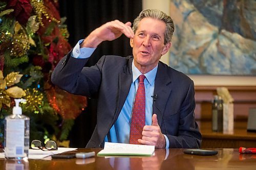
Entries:
[[[97,125],[87,148],[98,148],[116,122],[132,83],[133,57],[103,56],[95,66],[70,54],[61,59],[52,82],[73,94],[98,98]],[[159,62],[153,113],[169,139],[169,148],[199,148],[201,133],[195,122],[194,83],[186,75]]]

